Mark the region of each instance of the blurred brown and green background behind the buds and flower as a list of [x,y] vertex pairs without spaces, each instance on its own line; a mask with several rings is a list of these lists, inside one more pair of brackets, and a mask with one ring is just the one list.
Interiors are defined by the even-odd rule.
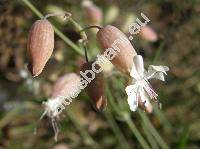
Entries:
[[[85,93],[60,118],[58,141],[49,118],[38,122],[53,82],[67,72],[79,72],[83,56],[79,34],[62,18],[50,18],[58,30],[54,53],[43,73],[27,74],[27,36],[41,14],[71,12],[82,27],[89,26],[78,0],[0,0],[0,148],[200,148],[200,1],[96,0],[103,12],[102,26],[127,27],[143,12],[159,40],[151,43],[134,36],[132,44],[148,64],[170,67],[166,82],[153,81],[162,109],[152,114],[131,112],[125,93],[126,78],[116,69],[105,73],[108,106],[97,112]],[[60,34],[63,33],[63,34]],[[64,35],[64,36],[62,36]],[[99,53],[95,33],[87,32],[90,59]],[[66,36],[66,37],[65,37]],[[116,73],[117,72],[117,73]],[[27,76],[28,75],[28,76]],[[37,134],[34,128],[37,124]]]

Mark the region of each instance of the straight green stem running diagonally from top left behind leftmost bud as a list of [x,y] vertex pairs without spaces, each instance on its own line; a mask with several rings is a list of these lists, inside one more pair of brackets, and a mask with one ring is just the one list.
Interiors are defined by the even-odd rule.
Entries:
[[[27,5],[31,11],[33,11],[39,18],[43,18],[44,16],[42,13],[29,1],[29,0],[21,0],[24,2],[25,5]],[[75,43],[73,43],[68,37],[66,37],[57,27],[54,27],[55,33],[68,45],[70,46],[75,52],[77,52],[79,55],[84,56],[83,50],[81,50]]]

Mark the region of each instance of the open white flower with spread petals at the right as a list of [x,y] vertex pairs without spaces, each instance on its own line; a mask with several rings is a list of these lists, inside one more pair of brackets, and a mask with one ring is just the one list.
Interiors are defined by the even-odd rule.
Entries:
[[132,85],[126,87],[128,95],[128,104],[132,111],[136,111],[138,101],[141,100],[145,107],[149,105],[149,98],[157,100],[157,94],[148,82],[149,79],[159,79],[165,81],[164,74],[169,71],[167,66],[150,65],[148,71],[144,69],[143,58],[141,55],[136,55],[133,58],[133,66],[130,76],[133,77]]

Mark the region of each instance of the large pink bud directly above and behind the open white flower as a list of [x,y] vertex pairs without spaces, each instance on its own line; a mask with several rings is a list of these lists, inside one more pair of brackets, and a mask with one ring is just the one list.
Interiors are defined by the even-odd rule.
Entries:
[[129,74],[133,65],[133,57],[137,53],[126,35],[116,27],[107,25],[98,31],[97,41],[104,54],[107,53],[108,55],[108,51],[114,54],[110,61],[120,71]]

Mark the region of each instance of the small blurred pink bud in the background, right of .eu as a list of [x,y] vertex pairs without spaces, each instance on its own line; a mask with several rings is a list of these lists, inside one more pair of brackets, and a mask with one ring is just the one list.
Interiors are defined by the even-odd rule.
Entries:
[[141,27],[139,35],[142,39],[149,42],[155,42],[158,40],[157,33],[149,26]]

